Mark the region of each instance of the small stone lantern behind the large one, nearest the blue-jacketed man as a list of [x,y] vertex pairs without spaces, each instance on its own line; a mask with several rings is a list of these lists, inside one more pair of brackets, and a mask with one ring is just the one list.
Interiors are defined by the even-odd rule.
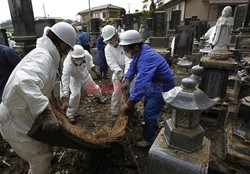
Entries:
[[192,66],[192,62],[188,60],[186,56],[183,58],[179,58],[178,65],[178,71],[175,75],[175,85],[179,86],[181,85],[181,80],[189,77],[189,68]]

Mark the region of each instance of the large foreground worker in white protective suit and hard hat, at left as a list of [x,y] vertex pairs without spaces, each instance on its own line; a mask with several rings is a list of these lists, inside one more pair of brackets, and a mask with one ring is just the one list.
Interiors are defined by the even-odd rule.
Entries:
[[27,135],[36,118],[42,129],[55,131],[58,122],[48,96],[51,94],[60,60],[76,41],[75,29],[59,22],[46,27],[36,48],[15,67],[3,91],[0,104],[2,137],[21,158],[28,161],[32,174],[51,173],[52,148]]

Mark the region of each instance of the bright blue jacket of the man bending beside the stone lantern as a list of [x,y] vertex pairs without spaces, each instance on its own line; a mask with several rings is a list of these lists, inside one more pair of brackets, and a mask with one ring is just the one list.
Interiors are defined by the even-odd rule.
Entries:
[[148,45],[143,44],[139,53],[130,64],[126,78],[136,76],[134,87],[130,92],[130,100],[138,102],[145,99],[160,97],[162,92],[175,86],[174,75],[167,61]]

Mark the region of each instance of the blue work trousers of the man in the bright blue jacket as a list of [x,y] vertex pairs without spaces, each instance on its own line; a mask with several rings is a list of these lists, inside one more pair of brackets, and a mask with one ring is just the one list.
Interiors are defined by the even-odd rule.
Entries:
[[160,113],[162,111],[165,101],[161,96],[145,98],[144,100],[144,120],[145,127],[143,130],[143,137],[146,141],[152,142],[155,139],[155,132],[158,126]]

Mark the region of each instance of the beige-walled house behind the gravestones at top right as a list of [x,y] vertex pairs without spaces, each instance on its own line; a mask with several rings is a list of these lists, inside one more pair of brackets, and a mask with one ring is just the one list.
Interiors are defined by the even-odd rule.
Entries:
[[216,21],[223,8],[230,5],[233,11],[237,5],[247,4],[248,0],[171,0],[158,10],[165,10],[167,21],[171,20],[171,11],[181,10],[181,21],[191,16],[197,16],[200,20]]

